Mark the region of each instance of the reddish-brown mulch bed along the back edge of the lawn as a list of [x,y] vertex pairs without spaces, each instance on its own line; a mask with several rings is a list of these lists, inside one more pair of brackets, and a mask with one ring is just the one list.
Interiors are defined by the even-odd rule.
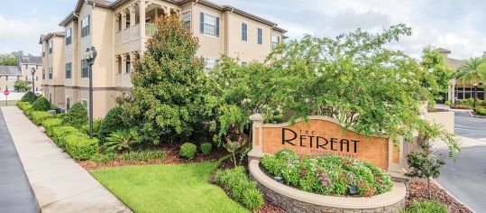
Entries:
[[150,162],[124,162],[121,159],[121,156],[113,162],[107,162],[105,164],[99,164],[92,161],[78,161],[79,165],[81,165],[85,170],[92,171],[97,169],[103,168],[110,168],[116,166],[126,166],[126,165],[152,165],[152,164],[183,164],[183,163],[191,163],[191,162],[215,162],[221,157],[227,154],[226,150],[221,148],[217,149],[213,147],[213,152],[210,155],[204,155],[202,153],[197,153],[196,157],[193,160],[188,160],[185,158],[179,157],[179,146],[175,145],[174,147],[164,147],[161,148],[165,153],[166,156],[162,160],[154,160]]

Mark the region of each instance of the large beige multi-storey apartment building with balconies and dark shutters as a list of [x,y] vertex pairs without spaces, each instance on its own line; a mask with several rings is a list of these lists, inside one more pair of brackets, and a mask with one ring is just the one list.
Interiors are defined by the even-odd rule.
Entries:
[[206,60],[206,68],[215,66],[221,54],[238,58],[242,64],[264,60],[285,39],[286,31],[277,23],[206,0],[78,0],[60,23],[65,32],[41,39],[45,50],[52,46],[55,52],[54,59],[46,54],[44,65],[57,72],[52,80],[44,81],[44,95],[66,109],[79,101],[87,105],[88,68],[83,56],[94,46],[93,113],[105,116],[115,106],[115,97],[132,88],[132,61],[142,57],[156,20],[165,15],[179,16],[198,38],[197,55]]

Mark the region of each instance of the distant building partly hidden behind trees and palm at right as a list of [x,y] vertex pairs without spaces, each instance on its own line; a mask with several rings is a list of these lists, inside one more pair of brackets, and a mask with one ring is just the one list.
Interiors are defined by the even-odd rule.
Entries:
[[[451,51],[443,48],[438,48],[436,51],[439,51],[444,55],[445,65],[447,65],[449,68],[459,71],[463,66],[463,60],[449,58]],[[472,85],[457,85],[456,80],[452,79],[451,84],[447,89],[447,94],[444,94],[444,99],[455,103],[467,98],[474,98],[474,87]],[[486,100],[484,96],[484,88],[478,87],[478,99]]]

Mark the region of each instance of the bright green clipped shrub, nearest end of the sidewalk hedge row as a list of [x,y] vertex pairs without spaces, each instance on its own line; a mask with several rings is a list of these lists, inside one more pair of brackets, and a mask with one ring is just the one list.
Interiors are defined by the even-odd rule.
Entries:
[[98,140],[89,139],[87,134],[71,133],[65,137],[66,151],[76,160],[91,159],[98,153]]

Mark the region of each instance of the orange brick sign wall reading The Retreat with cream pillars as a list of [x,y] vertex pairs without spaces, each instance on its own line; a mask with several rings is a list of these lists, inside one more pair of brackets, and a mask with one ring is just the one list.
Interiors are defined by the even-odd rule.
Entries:
[[333,153],[371,162],[381,169],[399,168],[400,152],[389,138],[363,136],[353,129],[344,131],[342,125],[326,116],[310,116],[309,120],[295,125],[263,124],[261,115],[253,115],[253,149],[250,153],[259,156],[277,153],[288,148],[301,155]]

